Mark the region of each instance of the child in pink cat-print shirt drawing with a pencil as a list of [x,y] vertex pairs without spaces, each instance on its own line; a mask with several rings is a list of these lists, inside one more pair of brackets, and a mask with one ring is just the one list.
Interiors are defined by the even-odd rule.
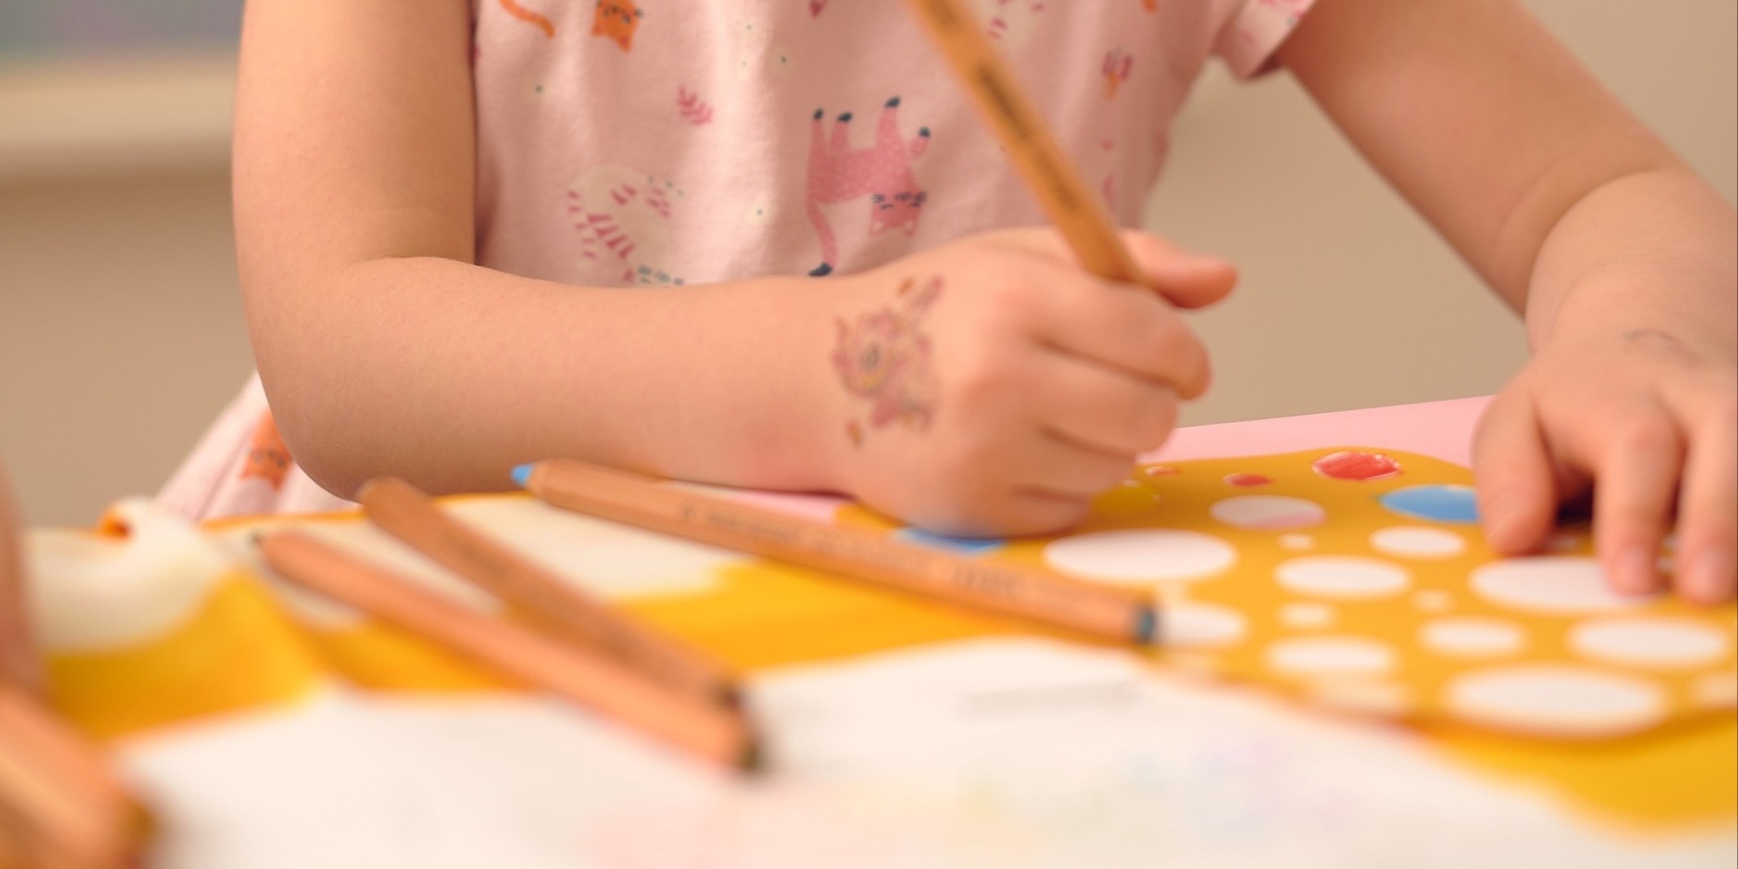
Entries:
[[[1731,596],[1731,205],[1512,0],[1310,5],[977,0],[1124,224],[1210,56],[1288,68],[1526,315],[1491,542],[1597,480],[1615,587],[1675,509],[1677,587]],[[572,455],[1055,530],[1206,388],[1175,309],[1236,280],[1135,231],[1142,287],[1074,266],[892,0],[254,0],[235,200],[264,386],[165,494],[205,514]]]

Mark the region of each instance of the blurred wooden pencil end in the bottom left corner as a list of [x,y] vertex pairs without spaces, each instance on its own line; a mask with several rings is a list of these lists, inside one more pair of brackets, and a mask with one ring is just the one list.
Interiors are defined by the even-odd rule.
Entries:
[[149,824],[103,754],[17,685],[0,685],[0,866],[136,866]]

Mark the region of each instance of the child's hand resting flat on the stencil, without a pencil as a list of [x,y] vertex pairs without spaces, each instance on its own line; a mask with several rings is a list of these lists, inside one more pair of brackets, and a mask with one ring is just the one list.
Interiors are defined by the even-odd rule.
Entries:
[[1606,575],[1618,591],[1649,593],[1663,584],[1656,553],[1675,506],[1679,593],[1731,598],[1738,372],[1728,356],[1660,330],[1547,342],[1489,405],[1474,441],[1491,546],[1536,549],[1556,506],[1592,488]]

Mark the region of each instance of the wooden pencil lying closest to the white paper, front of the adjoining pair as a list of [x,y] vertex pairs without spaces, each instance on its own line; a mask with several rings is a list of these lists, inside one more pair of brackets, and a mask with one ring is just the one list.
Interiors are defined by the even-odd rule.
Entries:
[[676,693],[598,653],[474,614],[304,532],[259,539],[283,577],[572,699],[704,760],[751,766],[754,740],[740,711]]

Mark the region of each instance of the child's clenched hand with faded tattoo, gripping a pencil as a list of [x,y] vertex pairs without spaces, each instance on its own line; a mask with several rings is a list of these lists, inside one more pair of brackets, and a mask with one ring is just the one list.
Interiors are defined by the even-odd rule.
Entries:
[[[1208,360],[1175,308],[1236,271],[1128,233],[1151,287],[1081,271],[1053,231],[978,235],[848,278],[833,365],[846,488],[947,534],[1067,527],[1164,441]],[[1154,292],[1158,290],[1158,292]]]

